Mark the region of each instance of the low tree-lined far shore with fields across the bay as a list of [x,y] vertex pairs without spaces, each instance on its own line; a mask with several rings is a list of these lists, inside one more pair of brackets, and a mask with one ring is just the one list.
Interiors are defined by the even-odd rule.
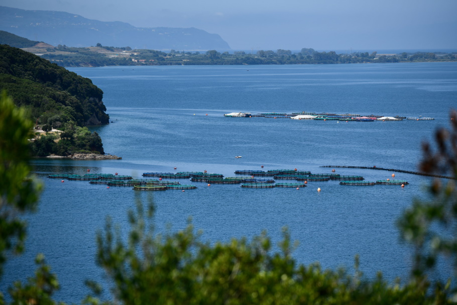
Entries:
[[218,52],[216,50],[186,52],[170,50],[132,50],[130,47],[108,47],[98,43],[95,47],[74,48],[65,45],[57,47],[24,48],[39,54],[42,58],[64,67],[99,66],[157,66],[157,65],[277,65],[277,64],[342,64],[342,63],[397,63],[397,62],[440,62],[457,61],[457,52],[402,52],[399,54],[378,54],[378,52],[354,52],[337,54],[334,51],[317,52],[303,48],[300,52],[278,49],[259,50],[256,53],[244,51]]

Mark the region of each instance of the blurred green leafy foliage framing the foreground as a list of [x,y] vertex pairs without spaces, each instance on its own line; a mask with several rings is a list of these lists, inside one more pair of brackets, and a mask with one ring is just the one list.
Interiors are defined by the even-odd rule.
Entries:
[[[31,174],[28,137],[33,123],[25,109],[0,97],[0,276],[12,252],[24,249],[26,224],[21,214],[36,209],[40,184]],[[457,114],[451,128],[436,133],[434,145],[424,144],[420,167],[457,179]],[[137,203],[128,215],[131,230],[122,236],[107,221],[97,233],[96,262],[103,267],[111,297],[101,300],[100,286],[83,304],[455,304],[457,302],[457,187],[455,179],[436,180],[433,199],[415,201],[400,217],[401,236],[415,248],[410,277],[389,282],[379,273],[366,278],[358,268],[322,269],[317,263],[298,264],[293,258],[290,235],[284,230],[280,251],[272,250],[266,234],[228,243],[206,243],[191,225],[176,233],[154,233],[152,201]],[[437,230],[439,229],[439,230]],[[449,263],[432,277],[437,261]],[[35,276],[12,283],[11,304],[57,304],[53,293],[58,277],[43,255],[36,260]],[[0,292],[0,303],[5,303]]]

